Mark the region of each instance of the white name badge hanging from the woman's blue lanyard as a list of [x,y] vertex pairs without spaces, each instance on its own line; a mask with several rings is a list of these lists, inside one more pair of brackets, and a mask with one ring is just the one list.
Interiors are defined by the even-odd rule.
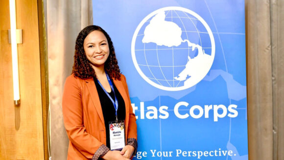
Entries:
[[124,121],[109,122],[111,150],[119,150],[125,146]]

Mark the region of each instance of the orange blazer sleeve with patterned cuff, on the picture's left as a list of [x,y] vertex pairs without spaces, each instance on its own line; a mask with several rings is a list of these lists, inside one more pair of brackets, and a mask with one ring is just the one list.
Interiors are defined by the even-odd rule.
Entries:
[[83,122],[81,93],[79,80],[76,80],[73,75],[68,77],[62,98],[64,126],[69,140],[76,149],[86,158],[97,160],[99,157],[104,156],[109,149],[86,132]]

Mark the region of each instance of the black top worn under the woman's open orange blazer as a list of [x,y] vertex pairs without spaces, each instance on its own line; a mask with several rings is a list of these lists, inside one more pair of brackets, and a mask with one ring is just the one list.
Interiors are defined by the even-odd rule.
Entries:
[[[105,124],[105,128],[106,128],[106,143],[107,143],[107,147],[110,148],[109,122],[110,121],[116,121],[116,109],[115,109],[112,101],[109,99],[107,94],[104,92],[104,90],[101,88],[101,86],[97,82],[97,80],[94,79],[94,81],[95,81],[95,87],[96,87],[96,90],[97,90],[97,93],[98,93],[98,97],[99,97],[99,101],[100,101],[100,105],[101,105],[101,109],[102,109],[102,113],[103,113],[103,118],[104,118],[104,124]],[[113,81],[112,81],[112,83],[114,85],[114,90],[115,90],[115,93],[116,93],[116,97],[118,99],[118,120],[125,120],[125,103],[124,103],[124,100],[121,97],[120,93],[118,92],[118,89],[117,89],[115,83]],[[115,101],[114,92],[111,90],[111,92],[109,94],[113,98],[113,100]]]

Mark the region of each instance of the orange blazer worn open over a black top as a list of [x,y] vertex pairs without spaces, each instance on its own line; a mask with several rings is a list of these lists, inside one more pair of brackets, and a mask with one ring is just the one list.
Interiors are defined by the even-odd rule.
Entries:
[[[113,80],[125,102],[125,139],[137,140],[137,125],[132,111],[126,79]],[[96,150],[106,145],[106,129],[94,79],[65,81],[62,99],[64,125],[69,137],[68,160],[92,159]],[[126,144],[126,141],[125,141]]]

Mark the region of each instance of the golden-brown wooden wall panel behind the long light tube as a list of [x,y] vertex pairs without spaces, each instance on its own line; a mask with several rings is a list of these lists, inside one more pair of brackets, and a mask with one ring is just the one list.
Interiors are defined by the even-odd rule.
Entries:
[[[37,0],[16,0],[21,106],[13,102],[9,0],[0,0],[0,160],[44,160]],[[16,124],[20,125],[16,130]]]

